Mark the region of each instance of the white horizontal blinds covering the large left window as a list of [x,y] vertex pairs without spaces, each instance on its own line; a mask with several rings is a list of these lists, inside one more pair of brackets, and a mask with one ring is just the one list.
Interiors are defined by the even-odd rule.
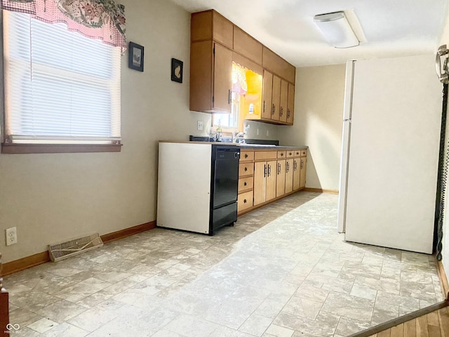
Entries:
[[120,48],[4,11],[6,138],[11,143],[118,143]]

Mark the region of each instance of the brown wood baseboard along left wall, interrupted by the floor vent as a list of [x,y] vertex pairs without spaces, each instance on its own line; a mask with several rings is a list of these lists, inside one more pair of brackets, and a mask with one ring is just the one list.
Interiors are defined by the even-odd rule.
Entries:
[[[104,243],[116,241],[123,239],[124,237],[129,237],[130,235],[138,234],[140,232],[145,232],[147,230],[152,230],[156,227],[156,221],[151,221],[149,223],[143,223],[142,225],[137,225],[133,227],[128,227],[123,230],[117,230],[116,232],[101,235],[101,239]],[[25,258],[20,258],[8,263],[3,264],[3,270],[1,270],[0,276],[11,275],[15,272],[20,272],[20,270],[25,270],[36,265],[41,265],[50,261],[50,255],[48,251],[43,251],[42,253],[37,253],[32,256],[26,256]]]

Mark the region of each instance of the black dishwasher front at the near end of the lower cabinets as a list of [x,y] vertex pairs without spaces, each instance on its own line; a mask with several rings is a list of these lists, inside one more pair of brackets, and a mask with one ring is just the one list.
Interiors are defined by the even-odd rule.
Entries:
[[240,150],[235,145],[212,145],[209,234],[237,220]]

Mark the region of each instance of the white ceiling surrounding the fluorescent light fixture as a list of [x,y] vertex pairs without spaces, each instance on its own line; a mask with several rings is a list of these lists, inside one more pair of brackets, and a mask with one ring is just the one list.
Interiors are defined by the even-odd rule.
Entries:
[[[447,0],[172,0],[194,13],[215,9],[296,67],[333,65],[349,59],[434,53]],[[330,46],[314,15],[353,11],[366,41]]]

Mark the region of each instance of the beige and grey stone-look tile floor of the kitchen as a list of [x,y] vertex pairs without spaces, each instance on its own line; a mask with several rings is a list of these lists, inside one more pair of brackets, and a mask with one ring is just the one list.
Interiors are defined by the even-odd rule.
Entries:
[[214,237],[155,229],[5,279],[14,336],[348,336],[443,300],[433,256],[343,241],[299,192]]

